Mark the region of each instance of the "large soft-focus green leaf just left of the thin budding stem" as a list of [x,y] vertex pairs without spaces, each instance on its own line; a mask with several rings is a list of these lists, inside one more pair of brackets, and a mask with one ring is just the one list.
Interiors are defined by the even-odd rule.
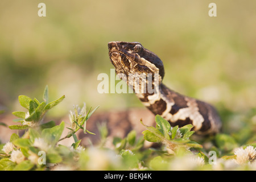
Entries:
[[60,125],[54,126],[50,129],[44,129],[42,131],[42,137],[48,142],[48,143],[54,143],[56,144],[61,134],[63,133],[65,123],[61,122]]

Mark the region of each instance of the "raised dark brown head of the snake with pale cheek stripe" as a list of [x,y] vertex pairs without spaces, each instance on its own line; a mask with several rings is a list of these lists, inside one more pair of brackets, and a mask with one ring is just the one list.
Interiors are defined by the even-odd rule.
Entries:
[[109,42],[109,57],[115,67],[115,72],[132,74],[159,74],[159,80],[164,77],[162,61],[154,52],[148,51],[138,42]]

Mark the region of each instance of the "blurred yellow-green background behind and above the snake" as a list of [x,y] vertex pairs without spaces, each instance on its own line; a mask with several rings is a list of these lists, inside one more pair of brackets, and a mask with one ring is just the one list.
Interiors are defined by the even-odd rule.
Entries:
[[[46,4],[46,17],[38,4]],[[208,15],[209,3],[217,17]],[[53,115],[73,105],[143,107],[134,94],[99,94],[110,75],[110,41],[140,42],[162,59],[170,88],[232,111],[256,105],[256,1],[0,1],[0,105],[18,96],[51,100]],[[42,101],[42,100],[41,100]]]

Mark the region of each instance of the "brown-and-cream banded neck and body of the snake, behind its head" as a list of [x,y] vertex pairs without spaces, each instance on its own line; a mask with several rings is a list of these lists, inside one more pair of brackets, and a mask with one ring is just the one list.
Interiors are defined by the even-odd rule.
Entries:
[[217,133],[220,130],[221,121],[213,106],[174,92],[163,83],[160,83],[158,92],[137,93],[137,97],[152,113],[169,121],[171,126],[192,124],[198,134]]

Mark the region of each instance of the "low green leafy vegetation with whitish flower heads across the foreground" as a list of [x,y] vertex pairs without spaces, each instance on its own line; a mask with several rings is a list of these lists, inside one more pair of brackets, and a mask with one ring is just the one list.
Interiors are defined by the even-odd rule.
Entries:
[[[105,147],[108,136],[106,126],[101,126],[101,143],[83,147],[76,132],[93,134],[86,130],[86,122],[93,111],[86,112],[85,105],[75,107],[69,114],[70,130],[61,138],[64,122],[43,122],[46,112],[59,104],[63,97],[49,102],[48,87],[43,102],[36,98],[19,96],[20,105],[28,111],[13,114],[21,125],[10,129],[24,130],[24,134],[11,135],[10,142],[0,144],[0,170],[224,170],[256,169],[255,123],[247,118],[247,126],[231,135],[217,134],[212,137],[193,139],[192,125],[171,127],[165,119],[156,115],[156,127],[144,125],[143,137],[130,131],[126,138],[114,138],[114,149]],[[254,110],[255,112],[255,110]],[[255,113],[254,113],[255,114]],[[247,130],[245,131],[245,128]],[[246,132],[246,135],[245,135]],[[58,144],[60,140],[73,137],[71,146]],[[158,147],[144,147],[145,141]],[[240,147],[240,148],[238,148]]]

